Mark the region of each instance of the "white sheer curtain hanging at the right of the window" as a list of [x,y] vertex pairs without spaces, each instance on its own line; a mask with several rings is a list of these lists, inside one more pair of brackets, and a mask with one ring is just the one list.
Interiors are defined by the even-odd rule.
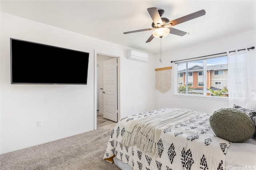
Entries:
[[228,55],[228,107],[245,107],[250,93],[247,53]]

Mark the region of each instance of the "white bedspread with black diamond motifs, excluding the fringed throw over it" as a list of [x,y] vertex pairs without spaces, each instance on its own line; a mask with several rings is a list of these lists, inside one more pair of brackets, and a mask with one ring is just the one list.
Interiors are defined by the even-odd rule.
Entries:
[[143,152],[138,146],[122,144],[127,125],[142,117],[169,113],[159,109],[126,117],[112,130],[104,158],[115,155],[134,170],[221,169],[230,143],[215,136],[209,125],[210,114],[200,113],[182,123],[164,128],[157,143],[157,155]]

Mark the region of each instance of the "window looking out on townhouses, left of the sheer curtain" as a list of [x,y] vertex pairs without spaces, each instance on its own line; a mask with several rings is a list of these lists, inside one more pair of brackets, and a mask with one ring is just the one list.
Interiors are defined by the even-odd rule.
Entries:
[[[227,56],[180,62],[176,65],[176,94],[228,97]],[[184,73],[182,79],[181,73]],[[198,76],[193,76],[194,73]],[[196,83],[194,87],[193,83]]]

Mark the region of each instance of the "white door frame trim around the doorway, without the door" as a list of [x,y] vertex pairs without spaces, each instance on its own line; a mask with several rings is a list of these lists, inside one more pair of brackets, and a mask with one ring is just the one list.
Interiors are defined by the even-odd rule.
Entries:
[[117,57],[117,121],[120,120],[120,55],[94,50],[94,130],[97,129],[97,54]]

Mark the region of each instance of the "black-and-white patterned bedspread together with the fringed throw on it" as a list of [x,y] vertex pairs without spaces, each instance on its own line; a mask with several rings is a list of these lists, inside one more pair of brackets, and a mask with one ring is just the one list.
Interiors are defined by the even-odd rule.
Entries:
[[104,159],[113,155],[134,170],[211,170],[224,167],[230,143],[217,137],[210,114],[158,109],[121,119]]

